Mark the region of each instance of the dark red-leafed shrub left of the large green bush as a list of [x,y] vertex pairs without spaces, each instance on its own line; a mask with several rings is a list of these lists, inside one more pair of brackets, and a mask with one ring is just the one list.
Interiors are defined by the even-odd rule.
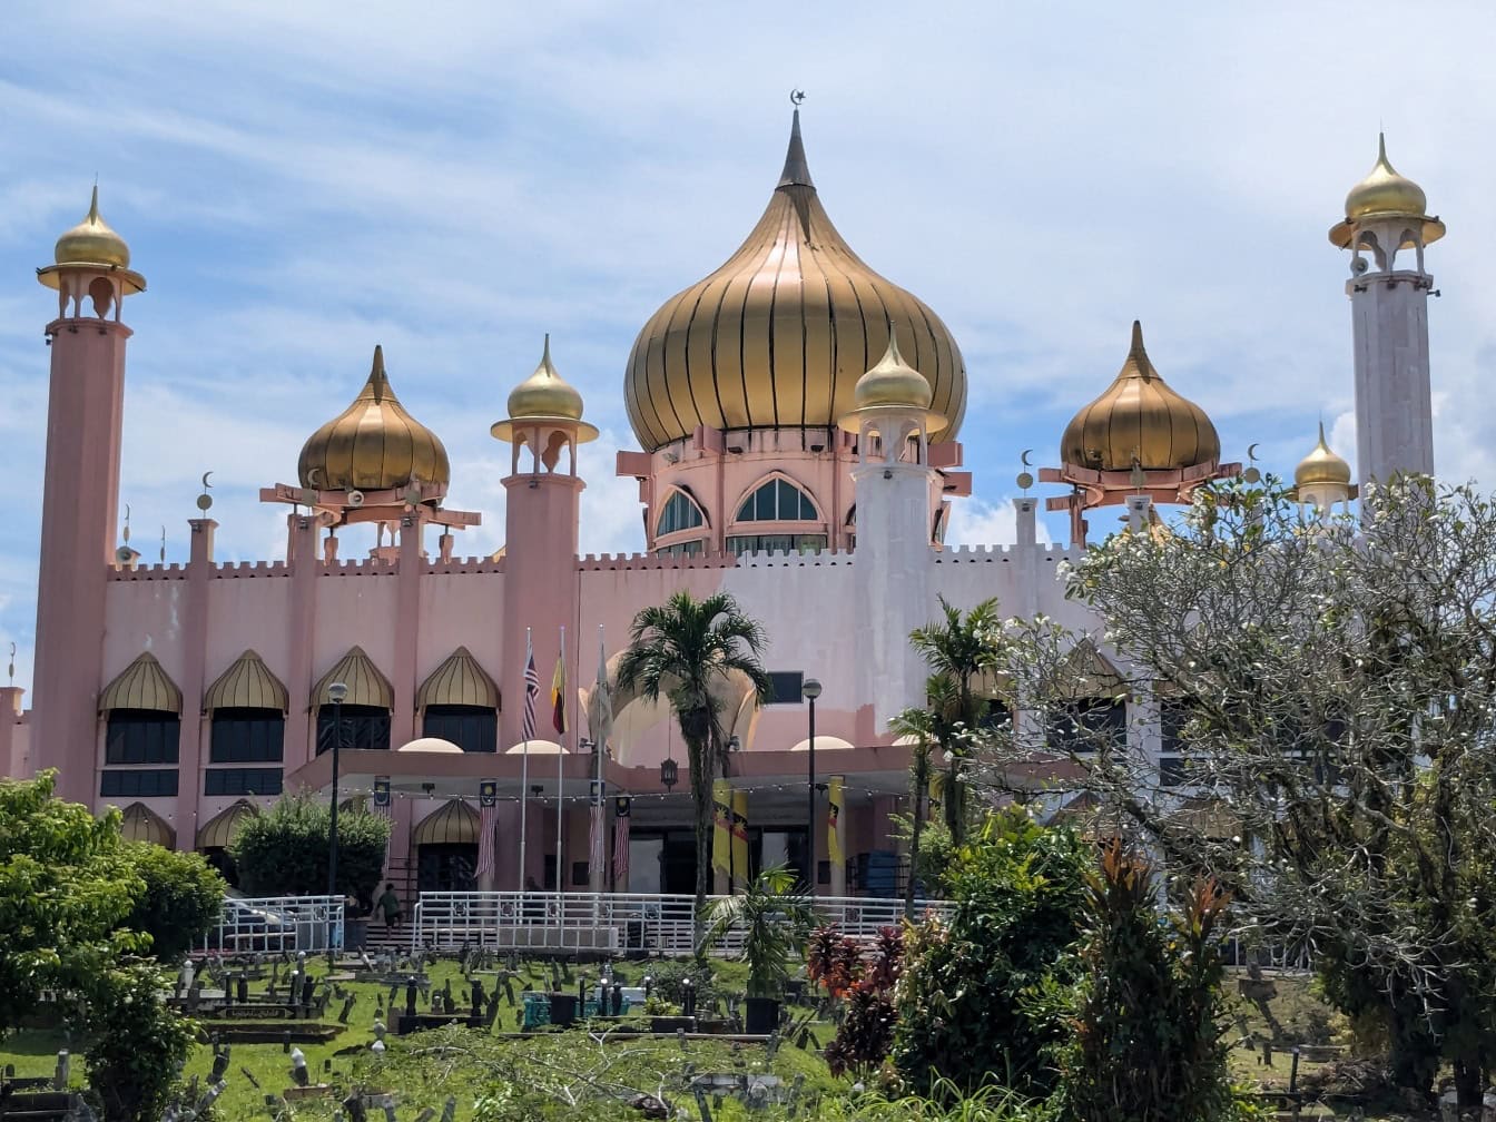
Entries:
[[893,984],[904,963],[904,932],[880,928],[874,944],[820,928],[806,954],[811,981],[841,1002],[836,1037],[826,1046],[832,1074],[880,1067],[893,1046]]

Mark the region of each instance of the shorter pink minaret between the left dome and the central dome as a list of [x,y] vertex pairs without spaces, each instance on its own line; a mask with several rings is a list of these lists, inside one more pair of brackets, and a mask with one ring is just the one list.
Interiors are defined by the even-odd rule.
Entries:
[[[509,419],[495,422],[491,431],[495,438],[509,441],[513,453],[510,474],[504,479],[501,625],[503,688],[518,697],[525,667],[525,628],[534,636],[542,688],[555,669],[561,628],[568,631],[570,667],[577,666],[580,639],[576,634],[576,546],[586,485],[576,474],[576,446],[597,440],[597,429],[582,420],[582,395],[552,365],[549,335],[536,373],[509,395]],[[568,681],[574,678],[568,669]],[[522,711],[522,705],[504,706],[500,751],[519,744]],[[543,727],[546,739],[555,736],[549,723]]]

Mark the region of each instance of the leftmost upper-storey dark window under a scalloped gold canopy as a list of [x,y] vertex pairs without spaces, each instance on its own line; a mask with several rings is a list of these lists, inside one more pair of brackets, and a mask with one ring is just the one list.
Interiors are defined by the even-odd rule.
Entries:
[[175,797],[183,691],[150,651],[99,694],[105,720],[102,797]]

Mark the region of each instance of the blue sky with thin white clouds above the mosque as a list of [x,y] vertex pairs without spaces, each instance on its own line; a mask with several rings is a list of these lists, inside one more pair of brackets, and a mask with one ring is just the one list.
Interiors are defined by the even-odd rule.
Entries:
[[[280,557],[305,437],[384,346],[452,453],[459,552],[501,545],[488,435],[551,332],[603,438],[582,549],[642,546],[622,371],[773,187],[806,90],[821,197],[960,343],[975,500],[1011,536],[1019,453],[1055,462],[1143,320],[1170,383],[1291,471],[1324,416],[1354,455],[1343,254],[1325,239],[1388,133],[1450,235],[1429,254],[1436,458],[1492,476],[1487,4],[12,6],[0,42],[0,642],[30,679],[46,402],[34,280],[99,177],[150,292],[126,304],[124,482],[181,561],[203,471],[223,560]],[[1100,524],[1098,524],[1100,525]],[[1058,521],[1055,537],[1064,536]]]

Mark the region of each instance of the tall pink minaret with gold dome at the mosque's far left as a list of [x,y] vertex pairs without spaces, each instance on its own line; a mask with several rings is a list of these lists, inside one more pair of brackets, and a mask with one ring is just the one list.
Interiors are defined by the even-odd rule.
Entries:
[[126,296],[145,292],[124,238],[88,217],[57,239],[37,280],[57,290],[46,402],[42,561],[36,589],[34,730],[37,767],[57,767],[57,793],[93,803],[103,678],[105,579],[114,561],[124,410]]

